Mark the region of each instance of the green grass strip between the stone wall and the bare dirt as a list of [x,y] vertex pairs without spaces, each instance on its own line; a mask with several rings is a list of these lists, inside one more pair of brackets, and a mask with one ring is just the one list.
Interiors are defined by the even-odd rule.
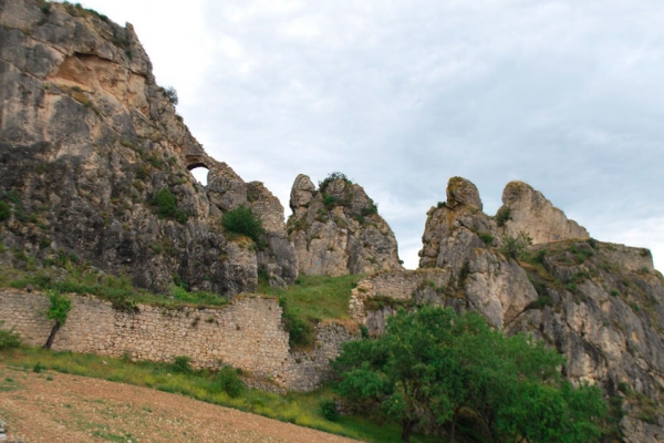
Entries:
[[[341,416],[331,422],[323,418],[319,405],[321,398],[333,393],[330,388],[309,393],[288,393],[279,395],[259,390],[245,390],[232,398],[218,383],[214,372],[200,370],[188,373],[177,372],[173,364],[154,362],[128,362],[123,359],[81,354],[73,352],[53,352],[38,348],[18,348],[0,353],[0,362],[10,369],[29,372],[39,365],[42,370],[52,370],[81,377],[123,382],[152,388],[169,393],[179,393],[207,403],[235,408],[240,411],[289,422],[301,426],[344,435],[367,442],[400,442],[401,426],[392,423],[375,423],[360,416]],[[18,389],[19,383],[0,382],[0,391]],[[434,437],[415,435],[414,443],[436,441]]]

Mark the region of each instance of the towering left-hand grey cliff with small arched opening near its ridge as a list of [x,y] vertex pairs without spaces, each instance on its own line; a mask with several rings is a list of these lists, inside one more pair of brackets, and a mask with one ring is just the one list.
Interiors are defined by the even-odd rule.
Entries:
[[[251,291],[259,266],[293,280],[281,205],[205,153],[131,24],[41,6],[0,1],[2,260],[75,253],[157,291],[176,274],[194,289]],[[207,189],[187,171],[196,166],[210,171]],[[242,203],[267,220],[270,248],[258,256],[219,223]]]

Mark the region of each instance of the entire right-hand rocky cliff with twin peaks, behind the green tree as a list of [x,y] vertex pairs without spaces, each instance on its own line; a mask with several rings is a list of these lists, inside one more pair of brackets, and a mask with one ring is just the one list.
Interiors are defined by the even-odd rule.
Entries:
[[[556,347],[572,382],[600,385],[613,408],[614,436],[664,441],[664,278],[650,251],[589,238],[520,182],[507,185],[505,207],[509,217],[487,216],[475,185],[453,177],[447,200],[427,213],[422,269],[361,280],[352,317],[376,334],[398,308],[478,311],[508,333]],[[537,244],[513,248],[510,241],[526,233]]]

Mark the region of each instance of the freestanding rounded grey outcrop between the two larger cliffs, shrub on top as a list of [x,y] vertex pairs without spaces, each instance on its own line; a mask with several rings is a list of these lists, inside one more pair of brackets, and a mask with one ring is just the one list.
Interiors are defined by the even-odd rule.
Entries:
[[345,178],[317,190],[300,174],[291,190],[289,238],[300,272],[342,276],[401,269],[396,238],[364,189]]

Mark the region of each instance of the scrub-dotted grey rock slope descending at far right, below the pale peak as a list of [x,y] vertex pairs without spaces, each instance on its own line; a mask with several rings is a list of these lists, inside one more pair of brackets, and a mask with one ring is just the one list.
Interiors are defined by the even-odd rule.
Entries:
[[[567,358],[564,375],[624,399],[629,442],[664,439],[664,278],[650,254],[594,240],[537,248],[525,262],[539,302],[508,328],[553,344]],[[647,262],[640,268],[623,262]],[[653,406],[656,405],[656,406]]]

